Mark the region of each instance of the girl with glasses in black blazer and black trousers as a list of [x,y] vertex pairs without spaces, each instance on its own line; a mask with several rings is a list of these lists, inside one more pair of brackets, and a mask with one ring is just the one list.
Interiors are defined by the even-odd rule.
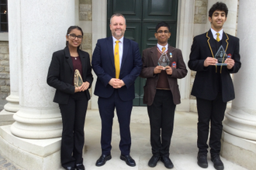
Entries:
[[[79,49],[83,31],[78,26],[67,29],[66,47],[54,52],[47,83],[56,89],[54,102],[61,109],[63,131],[61,165],[68,170],[83,170],[82,149],[85,142],[85,114],[92,85],[92,66],[88,53]],[[74,70],[79,70],[83,83],[74,87]]]

